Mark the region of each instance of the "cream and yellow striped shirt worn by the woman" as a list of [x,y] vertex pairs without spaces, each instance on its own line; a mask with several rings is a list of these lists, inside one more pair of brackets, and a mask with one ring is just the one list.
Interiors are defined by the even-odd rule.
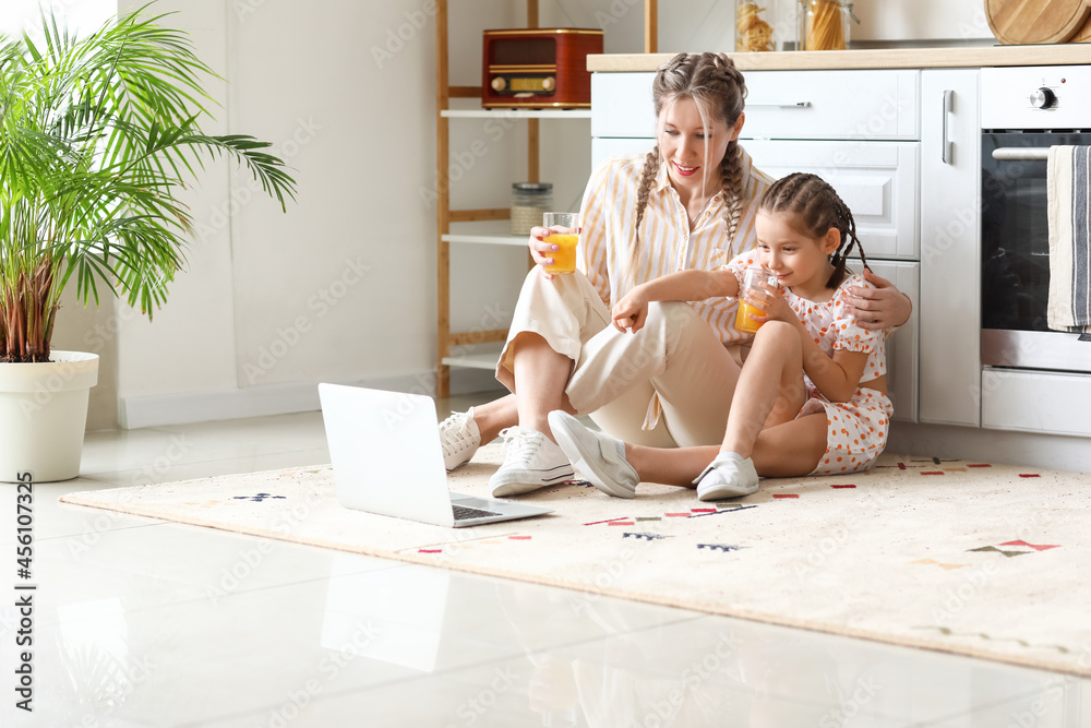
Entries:
[[[744,202],[734,240],[728,239],[723,192],[712,198],[691,230],[685,206],[670,184],[667,165],[659,165],[640,220],[635,281],[630,281],[628,275],[630,249],[635,238],[633,224],[645,155],[612,157],[595,171],[580,206],[583,231],[577,267],[587,275],[607,308],[621,300],[633,285],[690,268],[715,271],[736,253],[757,246],[754,230],[757,202],[772,178],[755,169],[750,155],[741,147],[740,154]],[[690,306],[708,322],[721,342],[738,343],[750,336],[735,331],[739,307],[735,298],[692,301]]]

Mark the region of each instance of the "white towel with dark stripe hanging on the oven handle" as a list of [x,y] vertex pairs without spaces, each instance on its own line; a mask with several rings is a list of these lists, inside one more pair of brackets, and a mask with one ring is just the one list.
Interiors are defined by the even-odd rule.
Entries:
[[1050,329],[1091,332],[1091,147],[1052,146]]

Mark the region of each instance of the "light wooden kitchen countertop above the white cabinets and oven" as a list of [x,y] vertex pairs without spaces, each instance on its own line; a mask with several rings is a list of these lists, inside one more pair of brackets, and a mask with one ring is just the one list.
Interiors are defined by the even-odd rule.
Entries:
[[[655,71],[674,53],[600,53],[587,57],[592,72]],[[1091,64],[1091,44],[987,46],[976,48],[891,48],[729,53],[741,71],[837,69],[935,69],[990,65]]]

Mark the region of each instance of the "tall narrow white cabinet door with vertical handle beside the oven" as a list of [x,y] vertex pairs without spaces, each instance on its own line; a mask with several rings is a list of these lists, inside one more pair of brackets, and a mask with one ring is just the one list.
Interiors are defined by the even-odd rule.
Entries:
[[921,421],[981,425],[976,70],[921,80]]

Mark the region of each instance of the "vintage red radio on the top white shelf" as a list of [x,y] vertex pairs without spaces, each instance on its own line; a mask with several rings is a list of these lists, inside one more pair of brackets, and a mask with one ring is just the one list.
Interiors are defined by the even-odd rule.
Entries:
[[481,106],[591,106],[587,55],[602,52],[602,31],[579,27],[485,31]]

